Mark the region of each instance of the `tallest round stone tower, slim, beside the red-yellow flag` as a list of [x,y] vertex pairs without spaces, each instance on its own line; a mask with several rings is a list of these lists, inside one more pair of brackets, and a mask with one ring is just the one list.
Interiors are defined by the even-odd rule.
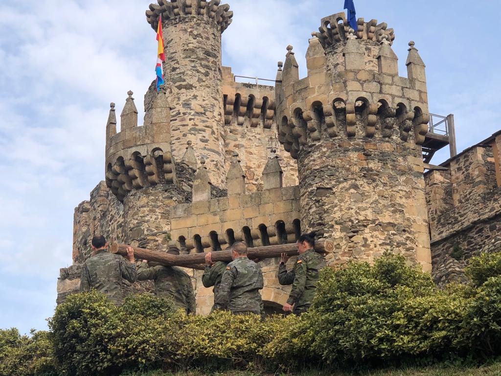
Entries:
[[221,33],[233,12],[219,0],[158,0],[146,11],[156,31],[159,15],[165,46],[164,80],[172,105],[172,153],[180,159],[186,140],[197,159],[204,158],[212,184],[224,177]]

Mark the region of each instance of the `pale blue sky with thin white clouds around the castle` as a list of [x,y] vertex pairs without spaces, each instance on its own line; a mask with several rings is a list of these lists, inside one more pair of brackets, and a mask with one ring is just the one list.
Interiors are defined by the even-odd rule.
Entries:
[[[300,76],[320,19],[344,0],[227,0],[223,65],[274,79],[294,46]],[[136,106],[154,79],[147,0],[0,2],[0,328],[47,328],[59,268],[71,265],[73,213],[104,179],[109,103]],[[455,116],[458,151],[501,129],[501,3],[492,0],[355,0],[357,17],[395,29],[406,76],[407,43],[424,63],[430,112]],[[141,114],[140,114],[141,116]],[[431,163],[448,157],[448,149]]]

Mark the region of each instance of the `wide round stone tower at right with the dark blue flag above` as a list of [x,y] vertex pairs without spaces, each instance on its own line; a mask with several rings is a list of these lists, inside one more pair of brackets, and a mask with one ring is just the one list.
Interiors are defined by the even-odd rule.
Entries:
[[[299,79],[289,46],[277,82],[281,143],[298,160],[301,225],[333,238],[331,264],[372,262],[385,250],[431,270],[421,144],[424,64],[409,43],[398,76],[392,29],[344,13],[322,19]],[[279,75],[280,76],[280,75]]]

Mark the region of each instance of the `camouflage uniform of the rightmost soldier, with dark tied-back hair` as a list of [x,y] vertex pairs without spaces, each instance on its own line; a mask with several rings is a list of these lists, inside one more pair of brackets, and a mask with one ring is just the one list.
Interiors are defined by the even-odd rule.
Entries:
[[285,265],[279,266],[279,282],[281,285],[291,285],[287,303],[294,305],[293,313],[299,315],[310,308],[315,297],[316,282],[319,272],[326,266],[324,256],[309,249],[298,256],[294,269],[287,271]]

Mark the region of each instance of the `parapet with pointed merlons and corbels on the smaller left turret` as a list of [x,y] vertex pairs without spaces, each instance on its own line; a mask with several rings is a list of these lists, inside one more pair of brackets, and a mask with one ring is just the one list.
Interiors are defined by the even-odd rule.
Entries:
[[156,95],[151,123],[137,125],[137,109],[128,92],[116,132],[115,104],[110,105],[106,126],[106,185],[120,201],[135,189],[173,183],[174,161],[170,151],[170,105],[166,92]]

